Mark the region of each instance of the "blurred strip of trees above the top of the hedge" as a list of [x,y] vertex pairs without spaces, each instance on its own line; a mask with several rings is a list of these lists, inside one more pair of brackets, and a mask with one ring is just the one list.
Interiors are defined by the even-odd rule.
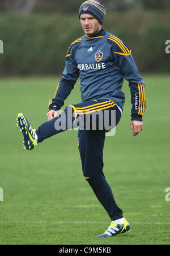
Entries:
[[[84,0],[1,0],[0,12],[78,12]],[[108,10],[128,9],[167,9],[170,8],[169,0],[103,0]]]

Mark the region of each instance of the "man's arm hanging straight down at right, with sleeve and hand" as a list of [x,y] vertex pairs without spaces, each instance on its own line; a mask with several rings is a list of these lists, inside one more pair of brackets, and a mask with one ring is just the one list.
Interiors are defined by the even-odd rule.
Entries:
[[145,84],[138,72],[137,65],[134,62],[131,50],[124,43],[125,52],[114,52],[118,66],[121,69],[124,78],[129,81],[131,91],[131,132],[133,136],[138,135],[143,130],[143,114],[145,112]]

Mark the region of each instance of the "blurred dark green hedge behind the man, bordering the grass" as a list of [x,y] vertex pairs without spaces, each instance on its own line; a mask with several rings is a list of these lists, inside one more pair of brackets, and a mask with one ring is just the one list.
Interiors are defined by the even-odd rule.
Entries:
[[[141,72],[169,72],[169,12],[110,12],[104,29],[131,47]],[[57,75],[69,45],[83,35],[78,15],[0,16],[0,75]]]

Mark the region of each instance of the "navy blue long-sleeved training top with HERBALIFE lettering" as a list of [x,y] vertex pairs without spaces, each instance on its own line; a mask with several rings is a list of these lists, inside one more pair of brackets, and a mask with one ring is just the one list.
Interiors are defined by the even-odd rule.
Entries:
[[131,91],[132,120],[142,120],[145,112],[145,85],[135,65],[129,46],[103,28],[94,36],[83,35],[71,43],[66,53],[65,69],[49,110],[59,110],[80,77],[82,102],[107,98],[123,110],[124,78]]

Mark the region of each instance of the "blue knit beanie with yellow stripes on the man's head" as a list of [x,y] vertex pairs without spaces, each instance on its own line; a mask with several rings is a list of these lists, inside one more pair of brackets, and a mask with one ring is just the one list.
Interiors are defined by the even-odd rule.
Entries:
[[91,14],[97,20],[99,20],[100,24],[104,22],[104,15],[107,12],[107,7],[105,7],[104,3],[96,0],[89,0],[84,2],[80,6],[79,10],[79,18],[82,13]]

